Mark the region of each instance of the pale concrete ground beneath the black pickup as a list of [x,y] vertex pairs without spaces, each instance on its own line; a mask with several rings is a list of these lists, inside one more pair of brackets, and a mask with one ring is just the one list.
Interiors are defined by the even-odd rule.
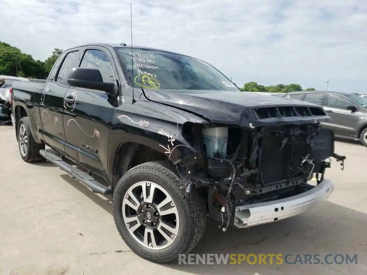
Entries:
[[221,232],[208,220],[192,253],[350,253],[349,265],[159,265],[132,253],[111,203],[47,162],[22,161],[11,126],[0,127],[0,274],[367,274],[367,148],[337,142],[335,191],[315,210],[272,224]]

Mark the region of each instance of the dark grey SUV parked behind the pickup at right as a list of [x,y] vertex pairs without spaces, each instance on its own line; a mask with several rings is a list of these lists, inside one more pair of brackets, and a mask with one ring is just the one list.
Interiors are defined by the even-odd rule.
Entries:
[[367,147],[367,98],[344,92],[289,92],[285,98],[315,103],[324,108],[333,121],[321,122],[335,136],[360,140]]

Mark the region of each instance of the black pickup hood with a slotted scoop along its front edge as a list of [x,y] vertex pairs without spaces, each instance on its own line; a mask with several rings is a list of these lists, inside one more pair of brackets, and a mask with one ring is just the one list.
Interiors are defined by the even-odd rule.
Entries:
[[148,100],[199,115],[211,123],[254,128],[330,120],[316,104],[256,92],[144,90]]

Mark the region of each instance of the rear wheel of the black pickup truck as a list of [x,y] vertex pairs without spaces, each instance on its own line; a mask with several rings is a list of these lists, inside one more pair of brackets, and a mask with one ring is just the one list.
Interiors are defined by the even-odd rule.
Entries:
[[19,120],[18,147],[23,161],[34,162],[43,159],[39,152],[45,148],[45,145],[34,141],[32,132],[30,131],[28,117],[22,117]]

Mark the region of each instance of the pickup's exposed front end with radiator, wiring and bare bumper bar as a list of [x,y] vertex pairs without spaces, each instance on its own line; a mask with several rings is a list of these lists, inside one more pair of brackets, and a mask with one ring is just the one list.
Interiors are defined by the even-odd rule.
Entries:
[[[321,129],[330,117],[318,107],[256,107],[241,125],[183,125],[197,150],[175,162],[186,182],[208,198],[208,212],[223,231],[294,216],[325,200],[333,184],[324,180],[334,153],[334,133]],[[316,186],[309,183],[316,179]]]

